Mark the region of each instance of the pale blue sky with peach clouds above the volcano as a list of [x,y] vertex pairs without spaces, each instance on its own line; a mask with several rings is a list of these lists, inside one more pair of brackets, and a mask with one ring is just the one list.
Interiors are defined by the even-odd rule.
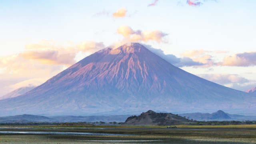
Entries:
[[256,86],[255,0],[0,0],[0,96],[139,42],[237,90]]

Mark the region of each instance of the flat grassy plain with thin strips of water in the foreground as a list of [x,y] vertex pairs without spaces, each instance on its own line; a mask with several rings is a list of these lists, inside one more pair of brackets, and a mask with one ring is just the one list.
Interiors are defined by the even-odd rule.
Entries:
[[2,144],[255,144],[256,125],[2,126]]

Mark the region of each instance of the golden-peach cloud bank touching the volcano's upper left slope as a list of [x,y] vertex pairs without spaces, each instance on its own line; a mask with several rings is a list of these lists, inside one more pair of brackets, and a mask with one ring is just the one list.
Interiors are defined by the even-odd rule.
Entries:
[[53,40],[41,40],[36,44],[27,44],[26,51],[21,52],[22,56],[28,60],[36,60],[42,64],[71,66],[76,63],[78,52],[96,52],[104,48],[103,42],[82,41],[79,44],[64,42],[58,44]]

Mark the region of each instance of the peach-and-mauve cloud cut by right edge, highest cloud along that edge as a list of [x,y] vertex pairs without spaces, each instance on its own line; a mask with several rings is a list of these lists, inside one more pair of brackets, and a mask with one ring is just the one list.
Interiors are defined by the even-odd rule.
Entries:
[[222,66],[255,66],[256,65],[256,52],[244,52],[241,54],[234,54],[233,56],[226,56]]

